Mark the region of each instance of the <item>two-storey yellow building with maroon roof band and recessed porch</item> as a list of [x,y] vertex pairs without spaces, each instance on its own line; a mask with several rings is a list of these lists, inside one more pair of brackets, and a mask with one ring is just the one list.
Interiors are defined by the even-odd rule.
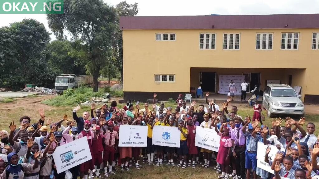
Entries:
[[319,103],[319,14],[121,17],[124,99],[177,98],[199,86],[217,93],[219,75],[301,86]]

